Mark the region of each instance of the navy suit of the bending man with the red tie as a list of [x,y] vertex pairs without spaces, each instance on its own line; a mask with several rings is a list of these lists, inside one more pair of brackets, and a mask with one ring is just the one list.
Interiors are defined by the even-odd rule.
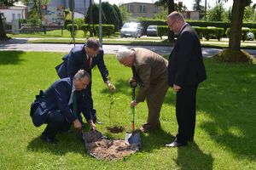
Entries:
[[[64,60],[61,65],[55,67],[59,77],[73,77],[77,71],[83,69],[91,75],[91,69],[97,65],[99,71],[102,74],[102,79],[104,82],[108,80],[108,69],[104,63],[103,59],[104,51],[102,48],[99,49],[99,54],[91,60],[90,68],[87,65],[87,56],[85,54],[84,45],[77,46],[71,49],[70,53],[65,55],[62,59]],[[92,77],[91,77],[92,80]],[[85,101],[90,105],[90,115],[93,116],[93,119],[96,119],[96,111],[93,109],[93,99],[91,98],[91,83],[84,90]]]

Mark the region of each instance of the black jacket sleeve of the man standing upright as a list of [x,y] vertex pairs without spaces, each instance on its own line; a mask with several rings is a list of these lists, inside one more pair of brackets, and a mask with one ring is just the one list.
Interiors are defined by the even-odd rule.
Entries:
[[184,32],[179,37],[177,50],[177,72],[174,79],[174,84],[182,87],[183,79],[188,70],[189,61],[192,56],[193,36],[189,31]]

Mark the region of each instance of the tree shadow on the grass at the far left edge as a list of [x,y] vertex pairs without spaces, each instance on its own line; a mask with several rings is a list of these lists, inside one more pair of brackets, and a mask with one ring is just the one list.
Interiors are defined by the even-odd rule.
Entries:
[[20,59],[22,51],[0,51],[0,65],[19,65],[24,59]]

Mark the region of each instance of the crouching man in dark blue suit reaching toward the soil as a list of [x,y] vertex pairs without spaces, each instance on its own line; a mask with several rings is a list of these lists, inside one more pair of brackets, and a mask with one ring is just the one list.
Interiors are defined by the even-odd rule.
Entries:
[[80,70],[73,79],[70,77],[60,79],[46,91],[40,91],[32,103],[30,116],[32,116],[32,122],[36,127],[44,123],[47,124],[41,135],[44,142],[56,144],[56,133],[68,131],[72,124],[75,128],[81,128],[78,111],[84,114],[90,127],[96,129],[96,125],[86,111],[88,105],[84,105],[84,98],[81,98],[82,95],[78,95],[89,83],[90,75],[86,71]]

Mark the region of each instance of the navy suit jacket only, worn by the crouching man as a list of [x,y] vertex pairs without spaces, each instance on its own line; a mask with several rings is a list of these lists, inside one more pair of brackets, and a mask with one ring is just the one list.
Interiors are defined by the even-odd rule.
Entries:
[[[32,103],[32,122],[36,127],[46,122],[51,111],[60,111],[65,116],[67,122],[73,122],[77,116],[73,114],[73,105],[68,105],[72,94],[73,82],[70,77],[54,82],[46,91],[41,92]],[[79,93],[77,91],[77,93]],[[78,95],[78,97],[82,95]],[[78,110],[85,113],[87,106],[82,103],[83,98],[77,99]],[[89,115],[84,115],[86,120],[90,120]]]

